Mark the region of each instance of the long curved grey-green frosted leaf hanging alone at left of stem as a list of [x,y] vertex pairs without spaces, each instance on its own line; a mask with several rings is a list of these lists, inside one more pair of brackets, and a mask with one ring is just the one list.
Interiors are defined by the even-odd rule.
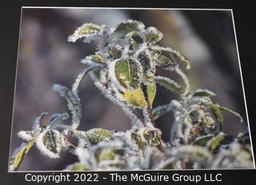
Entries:
[[70,109],[72,114],[71,128],[76,130],[82,117],[82,108],[78,96],[64,85],[54,85],[53,90],[65,98],[67,107]]

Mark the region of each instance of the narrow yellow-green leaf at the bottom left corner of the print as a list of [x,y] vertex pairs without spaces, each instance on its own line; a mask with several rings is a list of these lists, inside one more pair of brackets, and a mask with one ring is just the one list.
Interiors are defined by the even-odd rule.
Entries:
[[34,145],[34,140],[30,140],[28,143],[22,143],[19,148],[14,151],[13,156],[10,159],[10,171],[18,170],[18,167],[22,163],[24,156]]

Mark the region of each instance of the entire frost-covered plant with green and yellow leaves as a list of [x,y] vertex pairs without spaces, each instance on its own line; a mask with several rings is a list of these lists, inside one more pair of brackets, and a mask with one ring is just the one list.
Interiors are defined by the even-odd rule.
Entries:
[[[214,103],[210,97],[216,96],[215,93],[207,89],[191,90],[190,81],[180,67],[184,64],[190,69],[190,61],[177,50],[157,45],[162,37],[156,28],[145,28],[142,22],[134,20],[115,28],[86,23],[75,30],[68,41],[83,38],[84,42],[99,42],[94,55],[82,60],[85,69],[71,89],[54,85],[54,91],[66,100],[72,123],[62,123],[69,117],[64,112],[54,114],[48,124],[42,125],[47,114],[43,112],[30,131],[18,132],[23,143],[12,155],[10,170],[18,169],[34,144],[50,158],[58,158],[71,148],[69,151],[78,156],[78,162],[67,166],[66,171],[253,167],[248,133],[228,136],[222,132],[222,112],[230,112],[241,122],[242,117]],[[157,69],[178,74],[182,83],[157,76]],[[78,87],[88,73],[101,93],[130,117],[130,130],[78,130],[82,117]],[[177,94],[178,100],[154,108],[156,84]],[[167,143],[154,124],[166,112],[174,113]],[[78,144],[72,144],[70,136],[77,138]]]

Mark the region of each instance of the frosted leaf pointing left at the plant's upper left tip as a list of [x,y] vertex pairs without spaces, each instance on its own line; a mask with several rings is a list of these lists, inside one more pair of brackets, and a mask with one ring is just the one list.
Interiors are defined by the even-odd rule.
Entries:
[[92,23],[86,23],[78,27],[67,41],[75,42],[79,38],[85,37],[85,42],[89,42],[95,38],[100,37],[104,30],[105,26],[98,26]]

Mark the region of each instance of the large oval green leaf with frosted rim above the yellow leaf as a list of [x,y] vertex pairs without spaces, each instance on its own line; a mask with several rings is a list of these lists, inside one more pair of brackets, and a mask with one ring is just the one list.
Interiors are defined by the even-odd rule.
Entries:
[[142,84],[142,65],[134,59],[121,59],[114,65],[115,77],[125,89],[138,89]]

